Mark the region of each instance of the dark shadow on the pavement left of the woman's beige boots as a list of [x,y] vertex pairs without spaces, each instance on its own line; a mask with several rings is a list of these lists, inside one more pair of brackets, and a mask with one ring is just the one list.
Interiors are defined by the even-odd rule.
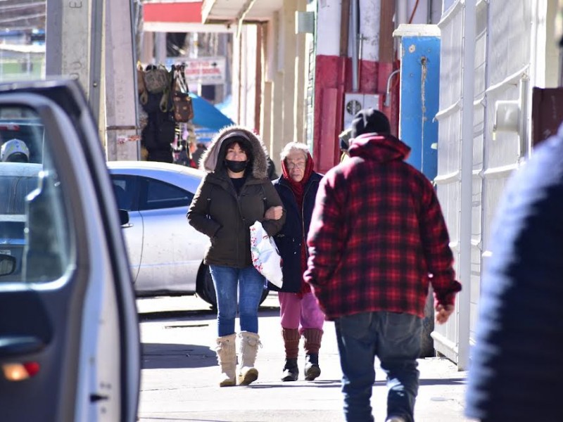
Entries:
[[205,368],[216,366],[215,352],[202,345],[142,343],[142,369]]

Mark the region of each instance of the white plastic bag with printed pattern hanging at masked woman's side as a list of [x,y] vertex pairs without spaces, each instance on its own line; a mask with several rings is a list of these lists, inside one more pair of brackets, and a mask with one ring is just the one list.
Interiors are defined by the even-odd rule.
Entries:
[[255,222],[251,227],[252,263],[258,272],[265,276],[274,286],[281,288],[283,276],[281,274],[281,257],[276,243],[262,227],[262,223]]

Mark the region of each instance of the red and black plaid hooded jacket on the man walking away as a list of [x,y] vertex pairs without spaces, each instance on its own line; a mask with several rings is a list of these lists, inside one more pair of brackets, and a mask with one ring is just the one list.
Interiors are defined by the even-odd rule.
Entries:
[[322,179],[308,234],[310,283],[329,319],[360,312],[424,316],[429,282],[453,305],[448,230],[433,186],[393,136],[363,135]]

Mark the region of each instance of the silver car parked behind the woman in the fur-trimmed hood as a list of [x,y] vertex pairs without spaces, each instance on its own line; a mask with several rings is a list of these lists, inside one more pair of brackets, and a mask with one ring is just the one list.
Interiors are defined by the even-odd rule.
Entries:
[[[190,226],[186,212],[204,174],[153,161],[108,162],[115,198],[129,212],[122,229],[138,296],[198,296],[217,306],[203,256],[209,238]],[[266,298],[265,290],[262,300]]]

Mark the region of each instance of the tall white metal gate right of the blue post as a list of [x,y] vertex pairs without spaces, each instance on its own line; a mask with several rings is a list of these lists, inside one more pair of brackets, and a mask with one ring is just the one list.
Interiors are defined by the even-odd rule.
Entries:
[[[474,19],[464,21],[466,3],[457,0],[445,11],[438,26],[441,29],[441,91],[438,130],[438,198],[443,207],[450,241],[456,260],[456,271],[463,291],[457,299],[456,317],[437,326],[432,336],[436,350],[467,367],[469,345],[474,341],[481,291],[481,269],[488,256],[488,238],[498,200],[512,170],[529,153],[530,104],[532,82],[542,84],[545,75],[534,75],[543,57],[533,45],[546,36],[546,4],[541,1],[477,1]],[[474,22],[468,32],[464,22]],[[548,35],[549,36],[549,35]],[[464,101],[464,69],[460,66],[464,46],[474,49],[472,112]],[[533,64],[532,64],[533,63]],[[539,82],[539,83],[538,83]],[[519,124],[514,129],[495,131],[499,102],[512,101],[519,109]],[[469,103],[471,104],[471,103]],[[469,105],[469,108],[471,106]],[[464,120],[472,120],[472,136],[463,136]],[[467,123],[467,122],[466,122]],[[500,129],[500,128],[499,128]],[[469,138],[469,139],[468,139]],[[467,148],[464,142],[472,143]],[[464,154],[469,151],[471,160]],[[464,203],[462,193],[463,165],[470,163],[471,200]],[[461,234],[470,228],[465,241]],[[470,245],[467,245],[470,243]],[[469,250],[467,250],[469,248]],[[465,255],[467,271],[462,268]]]

